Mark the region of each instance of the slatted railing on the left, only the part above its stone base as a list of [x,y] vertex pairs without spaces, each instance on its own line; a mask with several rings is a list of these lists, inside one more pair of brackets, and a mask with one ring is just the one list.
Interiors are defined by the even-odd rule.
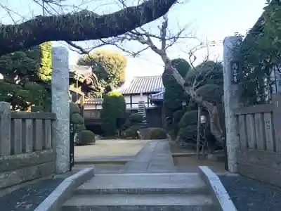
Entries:
[[[0,155],[16,155],[52,148],[53,113],[11,112],[11,118],[1,119]],[[10,125],[11,132],[8,132]]]

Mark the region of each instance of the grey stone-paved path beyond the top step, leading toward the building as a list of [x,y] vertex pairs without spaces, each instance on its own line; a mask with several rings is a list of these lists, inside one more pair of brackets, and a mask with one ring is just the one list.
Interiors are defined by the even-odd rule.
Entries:
[[119,173],[176,172],[169,142],[155,140],[146,143],[136,159],[126,163]]

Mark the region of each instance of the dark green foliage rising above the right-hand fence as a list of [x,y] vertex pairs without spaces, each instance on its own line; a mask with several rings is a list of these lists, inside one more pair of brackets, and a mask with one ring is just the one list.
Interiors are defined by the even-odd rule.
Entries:
[[273,75],[281,72],[280,22],[280,2],[270,1],[254,27],[244,40],[241,37],[241,44],[235,49],[242,66],[240,90],[245,106],[269,103],[271,100],[276,83]]

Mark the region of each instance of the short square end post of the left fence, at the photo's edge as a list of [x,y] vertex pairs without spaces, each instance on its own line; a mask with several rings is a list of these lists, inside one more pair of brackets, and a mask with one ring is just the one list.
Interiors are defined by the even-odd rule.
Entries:
[[0,156],[11,154],[11,104],[0,102]]

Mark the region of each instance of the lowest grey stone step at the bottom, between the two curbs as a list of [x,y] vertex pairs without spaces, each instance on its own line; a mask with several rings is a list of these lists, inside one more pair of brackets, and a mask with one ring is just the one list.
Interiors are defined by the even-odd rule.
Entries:
[[208,196],[190,196],[185,194],[152,195],[90,195],[74,196],[68,200],[62,211],[214,211],[214,205]]

